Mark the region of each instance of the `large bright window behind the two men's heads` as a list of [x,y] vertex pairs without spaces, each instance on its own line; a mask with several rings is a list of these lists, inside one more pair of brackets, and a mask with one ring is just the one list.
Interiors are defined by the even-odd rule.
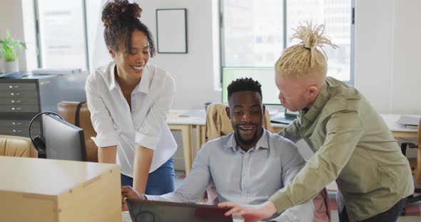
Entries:
[[339,48],[325,47],[328,75],[353,84],[352,0],[220,0],[223,102],[226,87],[235,78],[252,77],[262,83],[263,102],[279,104],[274,68],[291,41],[292,28],[313,21],[325,24],[325,33]]

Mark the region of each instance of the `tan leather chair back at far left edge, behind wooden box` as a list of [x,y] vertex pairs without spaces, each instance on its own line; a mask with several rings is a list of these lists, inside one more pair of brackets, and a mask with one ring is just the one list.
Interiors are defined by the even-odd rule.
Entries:
[[29,138],[0,135],[0,156],[38,158],[38,152]]

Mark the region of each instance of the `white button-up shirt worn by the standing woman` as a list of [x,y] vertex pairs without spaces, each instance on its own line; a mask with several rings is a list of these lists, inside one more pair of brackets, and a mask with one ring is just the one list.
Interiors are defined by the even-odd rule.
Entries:
[[121,174],[133,177],[136,144],[153,149],[153,172],[176,152],[177,144],[166,124],[173,102],[174,80],[156,65],[146,65],[131,93],[131,110],[116,81],[116,63],[96,69],[86,80],[86,99],[98,147],[117,146]]

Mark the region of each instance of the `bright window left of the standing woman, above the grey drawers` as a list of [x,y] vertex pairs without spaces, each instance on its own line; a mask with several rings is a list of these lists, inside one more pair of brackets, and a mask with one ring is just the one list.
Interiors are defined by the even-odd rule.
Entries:
[[36,1],[39,66],[88,68],[85,1]]

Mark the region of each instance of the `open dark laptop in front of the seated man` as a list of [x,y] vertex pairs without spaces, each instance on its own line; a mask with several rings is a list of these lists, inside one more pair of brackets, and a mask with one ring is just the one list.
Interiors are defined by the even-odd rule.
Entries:
[[217,206],[137,199],[126,199],[126,204],[132,222],[233,222],[232,216],[224,215],[228,209]]

